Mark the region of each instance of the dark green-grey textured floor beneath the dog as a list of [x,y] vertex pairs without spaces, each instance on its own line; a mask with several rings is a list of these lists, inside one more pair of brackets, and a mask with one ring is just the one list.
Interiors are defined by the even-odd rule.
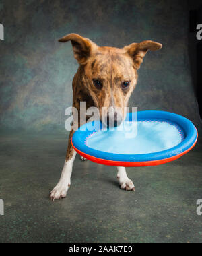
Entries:
[[0,242],[202,242],[202,143],[186,156],[127,168],[135,192],[119,189],[116,168],[77,156],[67,198],[49,201],[59,180],[64,135],[4,135],[0,146]]

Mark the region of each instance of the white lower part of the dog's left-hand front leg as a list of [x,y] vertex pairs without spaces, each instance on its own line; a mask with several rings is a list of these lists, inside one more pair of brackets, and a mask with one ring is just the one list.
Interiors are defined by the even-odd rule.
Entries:
[[71,172],[73,161],[75,160],[75,155],[76,152],[74,151],[72,158],[68,161],[65,160],[59,183],[57,183],[55,188],[50,192],[50,199],[52,199],[53,201],[55,199],[61,199],[63,197],[66,197],[67,195],[67,190],[71,185]]

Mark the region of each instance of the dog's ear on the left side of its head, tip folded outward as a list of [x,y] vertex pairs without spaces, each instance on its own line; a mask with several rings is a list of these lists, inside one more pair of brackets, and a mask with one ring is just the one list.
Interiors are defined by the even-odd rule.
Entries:
[[90,51],[92,50],[93,42],[88,38],[83,38],[79,34],[67,34],[59,39],[59,42],[71,41],[73,47],[73,54],[75,59],[79,64],[85,64],[88,57],[90,56]]

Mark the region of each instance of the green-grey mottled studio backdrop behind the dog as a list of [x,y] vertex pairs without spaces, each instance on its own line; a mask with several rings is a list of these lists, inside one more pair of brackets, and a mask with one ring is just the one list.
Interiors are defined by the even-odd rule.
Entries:
[[65,132],[71,82],[77,70],[71,44],[57,39],[78,33],[103,46],[156,40],[130,100],[139,110],[168,110],[199,124],[191,80],[187,1],[1,0],[1,129]]

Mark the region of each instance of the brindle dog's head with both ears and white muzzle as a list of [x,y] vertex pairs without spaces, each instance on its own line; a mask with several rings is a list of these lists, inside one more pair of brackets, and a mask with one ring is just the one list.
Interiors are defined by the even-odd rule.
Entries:
[[149,50],[162,48],[162,44],[147,40],[121,49],[100,47],[78,34],[68,34],[59,42],[69,40],[74,57],[83,68],[83,86],[86,86],[98,107],[100,119],[108,126],[120,125],[137,84],[137,70],[143,57]]

